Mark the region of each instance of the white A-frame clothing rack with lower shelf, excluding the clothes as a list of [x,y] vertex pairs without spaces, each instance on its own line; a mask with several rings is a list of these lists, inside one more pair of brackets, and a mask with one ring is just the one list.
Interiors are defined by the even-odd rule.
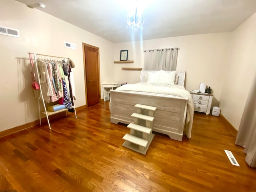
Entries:
[[[34,64],[35,64],[35,66],[36,66],[36,75],[37,75],[37,78],[36,78],[36,77],[35,77],[35,78],[37,79],[37,82],[39,83],[39,86],[40,86],[40,96],[41,96],[41,98],[42,98],[43,105],[44,105],[44,112],[42,112],[42,113],[44,113],[44,114],[46,115],[46,119],[47,119],[47,122],[48,122],[49,129],[51,129],[50,121],[49,121],[48,116],[53,115],[53,114],[56,114],[56,113],[64,112],[64,111],[66,111],[66,116],[67,116],[67,111],[68,111],[68,109],[65,108],[65,109],[63,109],[63,110],[59,110],[59,111],[56,111],[56,112],[48,112],[48,111],[46,110],[46,105],[45,105],[45,102],[44,102],[44,96],[43,96],[42,91],[41,91],[41,90],[42,90],[42,87],[41,87],[40,76],[39,76],[39,72],[38,72],[38,66],[37,66],[37,61],[36,61],[36,55],[47,56],[47,57],[52,57],[52,58],[62,58],[62,59],[65,59],[65,61],[66,61],[66,57],[59,57],[59,56],[52,56],[52,55],[45,55],[45,54],[36,54],[36,53],[34,53],[34,52],[27,52],[27,53],[34,55],[34,60],[35,60]],[[41,124],[42,124],[42,122],[41,122],[41,109],[40,109],[40,99],[39,99],[39,95],[38,95],[38,90],[36,90],[36,96],[37,96],[37,100],[38,100],[39,121],[40,121],[40,125],[41,125]],[[75,112],[75,116],[76,116],[76,107],[75,107],[75,102],[74,102],[74,100],[73,100],[73,106],[74,106],[74,112]],[[77,118],[77,116],[76,116],[76,118]]]

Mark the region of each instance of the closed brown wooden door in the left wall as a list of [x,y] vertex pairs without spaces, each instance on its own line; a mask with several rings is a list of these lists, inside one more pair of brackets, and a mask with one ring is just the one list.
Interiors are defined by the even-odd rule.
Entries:
[[100,102],[99,48],[83,43],[83,50],[86,104],[92,106]]

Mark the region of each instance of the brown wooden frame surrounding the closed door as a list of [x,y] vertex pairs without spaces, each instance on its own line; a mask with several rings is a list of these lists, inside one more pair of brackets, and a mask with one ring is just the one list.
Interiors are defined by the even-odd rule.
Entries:
[[86,82],[86,65],[85,65],[85,47],[91,47],[98,50],[98,81],[99,81],[99,93],[100,93],[100,102],[101,102],[101,84],[100,84],[100,48],[92,46],[86,43],[82,43],[83,46],[83,58],[84,58],[84,88],[85,88],[85,98],[86,98],[86,107],[88,107],[87,99],[87,82]]

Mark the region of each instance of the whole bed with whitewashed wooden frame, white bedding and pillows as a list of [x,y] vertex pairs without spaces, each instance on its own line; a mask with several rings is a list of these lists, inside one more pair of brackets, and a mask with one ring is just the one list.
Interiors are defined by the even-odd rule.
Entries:
[[[169,85],[163,80],[163,84],[161,78],[166,74],[175,74],[176,83]],[[182,141],[184,134],[190,138],[194,104],[184,88],[185,74],[185,71],[142,71],[140,83],[110,90],[110,122],[129,124],[134,122],[131,114],[136,112],[136,104],[154,106],[154,132],[178,141]]]

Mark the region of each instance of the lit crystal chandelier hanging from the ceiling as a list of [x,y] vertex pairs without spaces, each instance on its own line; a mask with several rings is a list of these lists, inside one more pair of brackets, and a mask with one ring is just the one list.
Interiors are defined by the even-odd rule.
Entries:
[[127,26],[126,29],[132,28],[132,30],[135,32],[140,28],[140,30],[143,29],[144,24],[144,18],[142,11],[138,9],[138,6],[136,6],[136,9],[130,10],[127,16]]

